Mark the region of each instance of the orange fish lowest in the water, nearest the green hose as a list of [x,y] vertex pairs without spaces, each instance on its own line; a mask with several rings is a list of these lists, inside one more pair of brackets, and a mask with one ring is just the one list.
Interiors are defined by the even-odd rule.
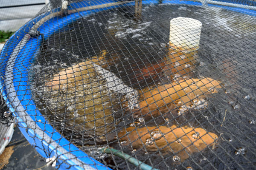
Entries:
[[218,136],[207,133],[202,128],[194,127],[128,127],[118,133],[123,145],[132,146],[133,149],[142,149],[147,152],[169,154],[175,153],[181,161],[189,158],[194,152],[199,152],[215,143]]

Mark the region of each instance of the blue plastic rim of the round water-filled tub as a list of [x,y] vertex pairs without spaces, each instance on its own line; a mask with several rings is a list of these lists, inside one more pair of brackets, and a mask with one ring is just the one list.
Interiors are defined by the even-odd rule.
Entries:
[[[113,3],[116,1],[104,0],[97,1],[100,5],[104,3]],[[217,1],[216,1],[217,2]],[[219,1],[218,1],[219,2]],[[227,2],[227,1],[226,1]],[[233,1],[232,1],[233,2]],[[143,4],[158,3],[158,0],[145,0]],[[193,6],[202,6],[200,2],[180,1],[180,0],[163,0],[162,3],[170,4],[185,4]],[[229,2],[230,3],[230,2]],[[247,3],[238,3],[246,4]],[[254,3],[253,3],[254,4]],[[72,7],[81,8],[90,6],[89,3],[73,3]],[[125,6],[133,6],[134,2],[126,3]],[[106,8],[99,8],[89,11],[81,11],[73,14],[68,14],[64,17],[54,17],[44,22],[37,31],[44,35],[47,40],[52,34],[59,29],[64,28],[74,20],[78,20],[81,16],[87,16],[98,11],[108,10],[110,8],[120,7],[110,6]],[[209,4],[209,6],[218,6],[227,10],[241,12],[256,16],[256,12],[250,9],[239,7],[221,6]],[[71,7],[70,7],[71,9]],[[60,11],[55,9],[54,11]],[[33,20],[30,20],[23,27],[21,27],[12,37],[6,42],[0,55],[0,88],[10,111],[15,116],[15,121],[19,125],[20,131],[26,139],[35,147],[35,149],[45,158],[56,157],[57,167],[61,169],[110,169],[99,161],[89,157],[86,153],[79,150],[76,146],[71,144],[67,139],[63,138],[48,122],[44,116],[36,108],[33,102],[31,91],[28,85],[28,69],[31,61],[37,57],[38,51],[42,45],[42,36],[29,35],[32,26],[40,19],[49,15],[42,14]],[[4,80],[5,79],[5,80]]]

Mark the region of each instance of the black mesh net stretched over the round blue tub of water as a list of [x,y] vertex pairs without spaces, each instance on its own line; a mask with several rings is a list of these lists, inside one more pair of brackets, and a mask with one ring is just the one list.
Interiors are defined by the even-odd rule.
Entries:
[[[51,125],[70,142],[66,147],[73,144],[111,169],[143,169],[143,163],[160,170],[255,169],[256,8],[251,1],[207,2],[143,1],[138,14],[134,1],[99,6],[102,2],[73,0],[67,9],[64,1],[62,9],[61,1],[49,3],[38,16],[50,17],[33,21],[38,30],[26,32],[28,39],[42,37],[41,43],[29,47],[23,38],[20,46],[2,52],[4,98],[20,111],[12,104],[19,93],[8,90],[16,83],[18,90],[31,91],[33,103],[19,98],[24,110],[34,103],[37,108],[27,113],[35,121],[14,113],[17,122],[35,131],[37,123]],[[74,13],[70,23],[56,24]],[[177,17],[202,23],[199,48],[169,41],[170,20]],[[41,31],[48,29],[53,33]],[[34,50],[33,45],[38,50],[29,66],[24,57],[9,67],[11,57],[29,56],[21,49]],[[10,75],[25,77],[27,85]],[[55,134],[47,128],[40,133]],[[32,138],[47,141],[44,135]],[[57,156],[57,167],[61,164],[75,166]]]

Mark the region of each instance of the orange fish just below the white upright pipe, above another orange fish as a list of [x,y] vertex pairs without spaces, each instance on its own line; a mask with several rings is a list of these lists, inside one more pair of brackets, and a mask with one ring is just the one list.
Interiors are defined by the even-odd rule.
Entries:
[[[159,85],[153,89],[141,91],[139,109],[134,110],[134,115],[157,116],[167,113],[178,106],[178,102],[184,105],[192,105],[194,99],[204,98],[205,94],[217,93],[216,88],[221,88],[221,82],[211,79],[182,79],[172,84]],[[149,114],[151,113],[151,114]]]

